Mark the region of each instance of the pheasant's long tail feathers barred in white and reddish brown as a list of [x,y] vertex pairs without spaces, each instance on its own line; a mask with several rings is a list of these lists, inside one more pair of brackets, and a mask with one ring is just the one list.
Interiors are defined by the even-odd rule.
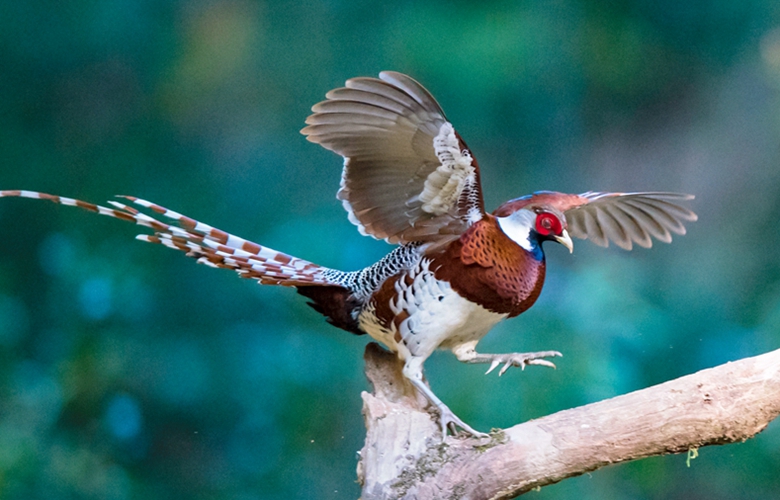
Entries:
[[49,200],[60,205],[79,207],[148,227],[154,231],[154,234],[140,234],[136,238],[182,251],[201,264],[232,269],[239,276],[255,279],[262,284],[296,287],[341,284],[336,278],[340,274],[338,271],[258,245],[133,196],[120,196],[120,198],[171,219],[174,224],[166,224],[128,204],[117,201],[109,201],[108,203],[114,208],[108,208],[74,198],[24,190],[0,191],[0,198],[2,197]]

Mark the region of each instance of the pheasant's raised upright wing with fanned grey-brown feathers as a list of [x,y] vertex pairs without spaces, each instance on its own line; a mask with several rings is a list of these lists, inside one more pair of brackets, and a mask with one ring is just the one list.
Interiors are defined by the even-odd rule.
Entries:
[[337,197],[361,233],[441,242],[482,218],[477,161],[422,85],[386,71],[326,97],[301,133],[344,157]]

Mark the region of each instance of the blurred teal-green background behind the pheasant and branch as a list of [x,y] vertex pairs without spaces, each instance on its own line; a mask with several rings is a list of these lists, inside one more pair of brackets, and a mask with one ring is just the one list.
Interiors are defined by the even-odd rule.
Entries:
[[[298,134],[353,76],[420,80],[480,161],[486,203],[534,190],[694,193],[672,245],[548,249],[538,304],[486,352],[439,353],[439,396],[506,427],[780,347],[780,3],[6,1],[0,188],[153,200],[315,262],[388,247]],[[291,290],[0,201],[0,498],[356,498],[365,337]],[[780,424],[744,444],[603,469],[558,499],[780,494]]]

